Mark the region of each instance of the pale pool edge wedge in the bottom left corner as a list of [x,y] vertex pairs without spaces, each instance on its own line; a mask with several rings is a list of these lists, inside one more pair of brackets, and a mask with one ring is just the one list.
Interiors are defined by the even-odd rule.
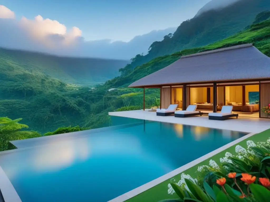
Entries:
[[22,202],[8,176],[0,166],[0,190],[5,202]]

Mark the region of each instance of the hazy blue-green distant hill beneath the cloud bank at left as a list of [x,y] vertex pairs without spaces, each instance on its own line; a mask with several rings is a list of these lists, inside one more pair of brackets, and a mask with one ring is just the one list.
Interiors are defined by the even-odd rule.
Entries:
[[[0,78],[4,72],[45,74],[67,83],[85,86],[104,83],[119,76],[119,68],[129,61],[98,58],[58,57],[0,48]],[[15,76],[14,75],[14,76]]]

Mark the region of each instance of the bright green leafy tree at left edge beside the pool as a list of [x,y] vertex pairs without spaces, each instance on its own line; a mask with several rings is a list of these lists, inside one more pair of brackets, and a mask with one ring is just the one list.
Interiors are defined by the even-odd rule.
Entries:
[[11,136],[22,128],[28,128],[25,124],[18,123],[20,119],[9,119],[8,117],[0,117],[0,151],[8,149],[8,141]]

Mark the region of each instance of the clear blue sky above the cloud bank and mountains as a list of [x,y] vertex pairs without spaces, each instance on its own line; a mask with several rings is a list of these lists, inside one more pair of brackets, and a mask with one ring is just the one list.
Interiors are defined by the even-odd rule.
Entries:
[[210,0],[0,0],[16,19],[37,15],[82,30],[86,40],[129,41],[152,30],[177,27]]

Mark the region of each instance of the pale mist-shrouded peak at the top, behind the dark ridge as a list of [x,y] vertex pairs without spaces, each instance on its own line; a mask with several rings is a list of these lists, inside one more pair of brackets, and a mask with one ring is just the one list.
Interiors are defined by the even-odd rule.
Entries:
[[225,8],[235,2],[237,2],[239,0],[212,0],[210,2],[208,2],[207,4],[205,4],[195,15],[195,17],[201,15],[202,13],[206,12],[206,11],[210,11],[210,10],[218,10],[218,9],[222,9]]

